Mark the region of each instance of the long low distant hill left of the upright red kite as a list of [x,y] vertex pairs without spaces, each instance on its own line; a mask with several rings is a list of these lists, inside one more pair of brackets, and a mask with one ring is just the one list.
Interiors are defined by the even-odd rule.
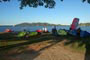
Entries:
[[21,23],[15,26],[60,26],[60,24],[50,24],[50,23]]

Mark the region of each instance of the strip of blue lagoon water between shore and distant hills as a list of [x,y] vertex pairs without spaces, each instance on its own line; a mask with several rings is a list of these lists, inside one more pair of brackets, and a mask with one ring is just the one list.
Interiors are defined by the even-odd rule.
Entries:
[[[28,31],[36,31],[37,29],[42,29],[44,26],[25,26],[25,27],[21,27],[21,26],[0,26],[0,32],[4,32],[5,29],[9,28],[13,31],[23,31],[24,29],[28,30]],[[49,31],[52,30],[53,26],[46,26],[47,29]],[[57,30],[59,29],[66,29],[69,30],[70,26],[57,26],[56,27]],[[90,26],[81,26],[81,29],[84,31],[88,31],[90,32]]]

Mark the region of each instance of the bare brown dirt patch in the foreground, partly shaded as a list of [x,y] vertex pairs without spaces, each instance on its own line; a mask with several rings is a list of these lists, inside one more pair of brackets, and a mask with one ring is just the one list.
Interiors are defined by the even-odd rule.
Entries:
[[84,60],[84,53],[71,51],[63,46],[63,41],[52,40],[34,43],[19,49],[13,49],[3,55],[2,60]]

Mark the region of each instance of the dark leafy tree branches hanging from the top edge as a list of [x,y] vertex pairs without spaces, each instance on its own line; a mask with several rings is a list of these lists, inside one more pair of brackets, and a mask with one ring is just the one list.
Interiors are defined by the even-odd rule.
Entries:
[[[0,0],[0,2],[7,2],[10,0]],[[20,1],[20,9],[23,9],[23,7],[29,6],[29,7],[38,7],[38,6],[44,6],[45,8],[54,8],[56,2],[55,0],[18,0]],[[63,0],[60,0],[63,1]],[[87,1],[90,4],[90,0],[82,0],[82,2]]]

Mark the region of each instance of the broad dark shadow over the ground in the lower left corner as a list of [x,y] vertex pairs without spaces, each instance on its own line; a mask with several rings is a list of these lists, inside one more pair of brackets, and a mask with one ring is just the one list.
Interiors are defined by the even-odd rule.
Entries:
[[14,49],[14,51],[11,50],[7,53],[5,52],[5,54],[0,54],[0,60],[33,60],[39,55],[40,52],[32,48],[27,50],[26,47],[19,47]]

